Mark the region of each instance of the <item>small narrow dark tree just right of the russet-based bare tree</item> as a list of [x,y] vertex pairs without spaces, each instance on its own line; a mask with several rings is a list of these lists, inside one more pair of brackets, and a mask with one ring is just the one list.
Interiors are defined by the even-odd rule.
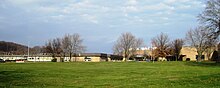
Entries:
[[176,57],[176,61],[180,58],[180,52],[183,44],[184,42],[182,39],[175,39],[171,42],[171,50],[173,51],[172,55]]

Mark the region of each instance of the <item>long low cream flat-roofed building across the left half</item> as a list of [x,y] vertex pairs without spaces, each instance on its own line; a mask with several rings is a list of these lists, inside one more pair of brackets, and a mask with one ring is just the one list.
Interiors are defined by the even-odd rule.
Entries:
[[[114,56],[114,57],[113,57]],[[104,53],[82,53],[70,56],[57,56],[52,55],[0,55],[0,59],[5,61],[25,60],[30,62],[50,62],[56,59],[57,62],[103,62],[113,61],[116,55],[108,55]],[[120,56],[118,56],[120,57]],[[116,58],[117,59],[117,58]]]

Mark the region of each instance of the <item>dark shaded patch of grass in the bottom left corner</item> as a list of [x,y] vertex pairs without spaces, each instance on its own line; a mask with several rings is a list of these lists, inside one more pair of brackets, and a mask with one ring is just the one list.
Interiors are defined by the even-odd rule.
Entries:
[[20,82],[28,77],[27,71],[5,70],[0,71],[0,87],[10,88],[16,82]]

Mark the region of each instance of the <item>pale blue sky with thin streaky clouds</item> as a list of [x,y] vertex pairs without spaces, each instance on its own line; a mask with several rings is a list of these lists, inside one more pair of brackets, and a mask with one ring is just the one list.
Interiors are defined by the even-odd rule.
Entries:
[[112,53],[125,32],[146,47],[162,32],[184,38],[204,7],[204,0],[0,0],[0,41],[42,46],[79,33],[86,52]]

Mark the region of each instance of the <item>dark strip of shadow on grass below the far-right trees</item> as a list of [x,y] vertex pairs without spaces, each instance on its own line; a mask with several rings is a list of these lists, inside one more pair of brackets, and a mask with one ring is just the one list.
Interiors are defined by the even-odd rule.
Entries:
[[186,62],[189,66],[204,66],[204,67],[220,67],[220,63],[214,61],[204,61],[204,62]]

